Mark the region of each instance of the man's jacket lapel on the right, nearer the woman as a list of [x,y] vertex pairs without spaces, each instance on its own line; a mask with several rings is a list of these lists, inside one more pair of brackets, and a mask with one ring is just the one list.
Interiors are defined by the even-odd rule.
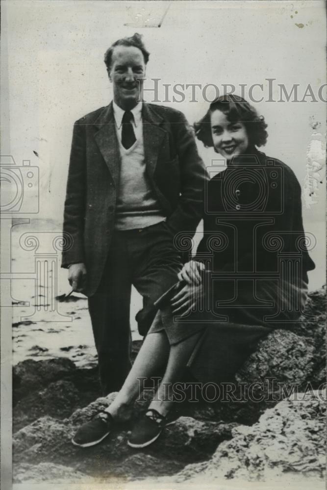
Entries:
[[143,120],[143,145],[144,156],[147,166],[147,172],[153,181],[154,171],[157,165],[160,148],[166,136],[160,124],[163,118],[154,112],[148,104],[143,102],[142,106]]

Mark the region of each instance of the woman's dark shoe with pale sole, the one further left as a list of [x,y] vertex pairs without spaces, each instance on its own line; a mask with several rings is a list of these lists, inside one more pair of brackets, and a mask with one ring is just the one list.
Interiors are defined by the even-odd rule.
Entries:
[[75,446],[80,447],[94,446],[107,437],[114,425],[112,416],[108,412],[100,410],[95,417],[78,429],[72,442]]

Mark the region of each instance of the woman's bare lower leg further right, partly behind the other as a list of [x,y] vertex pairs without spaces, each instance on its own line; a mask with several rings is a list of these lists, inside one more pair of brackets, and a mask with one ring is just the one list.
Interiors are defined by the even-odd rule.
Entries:
[[184,341],[175,345],[171,345],[170,347],[165,374],[160,382],[158,391],[156,392],[154,399],[149,405],[149,409],[156,410],[163,417],[167,415],[173,403],[173,400],[169,399],[170,396],[167,397],[167,394],[169,394],[167,387],[170,387],[171,389],[171,385],[173,383],[180,381],[184,369],[186,368],[186,364],[196,343],[201,336],[201,333],[202,332],[197,332],[188,339],[185,339]]

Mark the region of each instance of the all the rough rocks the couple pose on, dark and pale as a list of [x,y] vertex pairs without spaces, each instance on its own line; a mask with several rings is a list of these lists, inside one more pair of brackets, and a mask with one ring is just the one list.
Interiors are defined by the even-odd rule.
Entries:
[[[44,481],[47,474],[58,483],[78,481],[81,474],[98,483],[176,473],[181,481],[202,474],[273,480],[288,472],[320,478],[324,404],[310,398],[278,402],[292,388],[325,383],[325,295],[321,290],[309,296],[306,312],[315,321],[303,317],[293,332],[276,330],[258,344],[229,386],[232,392],[220,387],[225,398],[178,404],[175,425],[140,451],[126,444],[129,424],[87,450],[71,444],[77,427],[115,396],[98,398],[97,369],[77,369],[65,358],[19,363],[13,375],[15,481]],[[139,347],[133,344],[134,355]],[[147,401],[136,403],[134,419],[146,406]]]

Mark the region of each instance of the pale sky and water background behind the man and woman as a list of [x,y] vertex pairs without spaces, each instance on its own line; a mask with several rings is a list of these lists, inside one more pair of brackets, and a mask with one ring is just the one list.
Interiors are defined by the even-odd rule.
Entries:
[[[214,83],[219,87],[223,83],[264,83],[266,86],[266,78],[276,78],[275,83],[284,83],[288,89],[293,83],[300,84],[300,94],[311,84],[316,94],[318,87],[326,83],[325,6],[320,0],[2,1],[1,155],[11,154],[17,165],[30,160],[31,166],[37,166],[40,172],[39,214],[22,215],[31,218],[31,223],[15,226],[11,242],[10,232],[1,235],[2,277],[10,271],[14,275],[23,272],[32,277],[34,274],[34,252],[18,245],[23,232],[47,231],[49,237],[50,232],[61,232],[73,123],[107,105],[112,98],[103,63],[103,54],[112,42],[134,32],[143,34],[151,53],[147,76],[161,78],[162,83]],[[159,24],[165,12],[161,27],[151,27]],[[254,94],[258,96],[259,92]],[[183,111],[189,122],[194,123],[204,114],[208,103],[186,100],[167,105]],[[311,200],[305,194],[304,178],[308,162],[322,163],[325,159],[326,104],[261,102],[255,106],[269,124],[264,151],[287,163],[303,186],[304,227],[317,238],[311,252],[316,270],[310,272],[309,289],[320,288],[326,281],[325,167],[316,176],[317,189]],[[313,123],[320,126],[314,130]],[[201,144],[199,150],[206,165],[212,157],[217,158]],[[27,197],[33,198],[32,194]],[[3,223],[6,224],[5,220],[1,226]],[[13,277],[10,293],[10,281],[2,281],[2,305],[3,297],[9,298],[8,306],[12,299],[30,302],[25,308],[18,301],[12,309],[14,322],[25,315],[32,315],[35,320],[34,286],[34,279]],[[67,271],[60,270],[57,293],[68,291]],[[48,299],[45,297],[45,302]],[[140,298],[134,294],[131,318],[139,306]],[[61,322],[57,321],[58,312],[49,317],[49,312],[42,310],[44,316],[38,324],[22,324],[12,331],[11,308],[1,311],[4,400],[1,417],[6,421],[1,424],[1,429],[5,425],[1,444],[6,448],[3,467],[8,470],[12,363],[56,355],[67,355],[76,364],[85,366],[95,360],[86,301],[60,304],[58,311]],[[8,328],[3,328],[7,323]],[[132,330],[136,338],[135,322]],[[23,336],[24,341],[20,339]],[[35,344],[39,350],[33,350]],[[68,345],[74,348],[64,353],[61,348]],[[7,471],[1,476],[7,477]]]

